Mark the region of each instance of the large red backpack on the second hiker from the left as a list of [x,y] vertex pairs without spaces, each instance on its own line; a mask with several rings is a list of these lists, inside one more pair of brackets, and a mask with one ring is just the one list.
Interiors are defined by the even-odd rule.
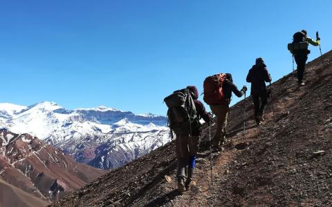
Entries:
[[219,73],[207,77],[204,80],[204,97],[203,100],[209,105],[219,105],[225,102],[225,95],[223,94],[223,81],[226,79],[225,73]]

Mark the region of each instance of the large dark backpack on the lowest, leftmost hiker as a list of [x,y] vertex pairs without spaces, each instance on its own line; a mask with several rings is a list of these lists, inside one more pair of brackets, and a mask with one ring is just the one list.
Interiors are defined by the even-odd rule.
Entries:
[[192,135],[192,124],[198,116],[192,91],[189,89],[176,90],[164,99],[168,110],[169,128],[176,135]]

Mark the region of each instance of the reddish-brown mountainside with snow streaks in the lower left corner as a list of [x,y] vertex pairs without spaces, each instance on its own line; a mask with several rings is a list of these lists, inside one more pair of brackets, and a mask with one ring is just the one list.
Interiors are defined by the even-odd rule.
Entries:
[[[29,134],[0,130],[0,204],[43,206],[93,181],[106,171],[79,164]],[[35,200],[35,201],[34,201]],[[17,203],[15,203],[17,202]],[[17,205],[16,205],[17,204]]]

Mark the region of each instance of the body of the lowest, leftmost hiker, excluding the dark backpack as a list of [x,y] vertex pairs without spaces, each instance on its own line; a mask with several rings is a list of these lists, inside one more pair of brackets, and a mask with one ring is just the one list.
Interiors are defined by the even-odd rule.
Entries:
[[201,135],[201,124],[199,119],[203,118],[205,122],[210,122],[210,115],[199,98],[199,91],[196,86],[187,86],[192,92],[192,98],[199,118],[192,124],[192,135],[176,135],[176,163],[178,179],[178,191],[187,190],[192,181],[195,168],[197,151],[199,150],[199,135]]

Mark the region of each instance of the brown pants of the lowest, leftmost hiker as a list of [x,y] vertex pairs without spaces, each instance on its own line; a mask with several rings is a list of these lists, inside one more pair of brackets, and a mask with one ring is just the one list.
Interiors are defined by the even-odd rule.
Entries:
[[[176,135],[176,177],[187,178],[187,167],[199,150],[199,136]],[[191,166],[192,167],[192,166]]]

